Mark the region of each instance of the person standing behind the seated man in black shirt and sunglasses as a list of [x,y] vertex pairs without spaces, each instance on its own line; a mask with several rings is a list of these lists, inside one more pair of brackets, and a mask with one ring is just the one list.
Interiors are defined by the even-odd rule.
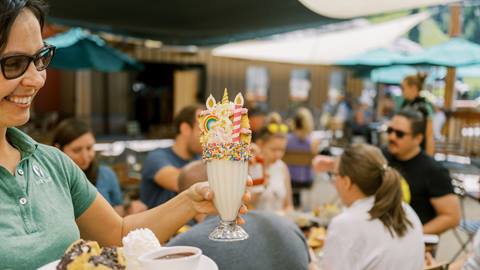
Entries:
[[422,141],[422,149],[427,154],[433,156],[435,153],[435,141],[433,138],[433,106],[427,99],[420,95],[420,91],[423,89],[423,84],[427,74],[417,73],[415,75],[407,76],[402,81],[402,94],[403,102],[401,104],[402,110],[415,110],[419,111],[425,119],[424,127],[424,139]]

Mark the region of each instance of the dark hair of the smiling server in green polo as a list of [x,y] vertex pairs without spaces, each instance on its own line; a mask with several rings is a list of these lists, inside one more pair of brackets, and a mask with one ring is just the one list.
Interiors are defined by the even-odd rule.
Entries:
[[15,22],[15,19],[22,12],[23,9],[29,9],[40,23],[40,28],[43,29],[45,24],[45,15],[47,5],[42,0],[2,0],[0,1],[0,52],[5,49],[7,45],[10,30]]

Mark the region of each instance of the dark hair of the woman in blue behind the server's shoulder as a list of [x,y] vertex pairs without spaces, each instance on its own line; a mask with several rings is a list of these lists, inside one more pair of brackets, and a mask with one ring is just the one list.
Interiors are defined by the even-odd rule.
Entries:
[[[86,122],[76,118],[65,119],[55,129],[51,144],[63,151],[66,145],[87,133],[93,134],[92,129]],[[98,161],[94,158],[90,166],[84,171],[88,180],[94,185],[97,182],[98,168]]]

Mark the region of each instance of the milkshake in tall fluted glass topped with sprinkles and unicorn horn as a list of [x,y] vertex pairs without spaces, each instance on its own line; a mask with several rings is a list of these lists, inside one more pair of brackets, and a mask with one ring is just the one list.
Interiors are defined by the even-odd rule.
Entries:
[[239,241],[248,238],[236,224],[242,205],[248,177],[251,131],[243,97],[238,94],[234,102],[228,100],[225,89],[221,102],[210,95],[207,109],[198,116],[202,131],[200,143],[202,158],[207,165],[214,204],[220,214],[220,223],[209,235],[215,241]]

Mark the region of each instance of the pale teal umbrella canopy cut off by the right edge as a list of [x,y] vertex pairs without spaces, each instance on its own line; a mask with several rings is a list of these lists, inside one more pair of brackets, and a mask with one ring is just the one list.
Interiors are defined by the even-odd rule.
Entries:
[[480,45],[452,38],[419,53],[398,59],[396,64],[461,67],[480,64]]

